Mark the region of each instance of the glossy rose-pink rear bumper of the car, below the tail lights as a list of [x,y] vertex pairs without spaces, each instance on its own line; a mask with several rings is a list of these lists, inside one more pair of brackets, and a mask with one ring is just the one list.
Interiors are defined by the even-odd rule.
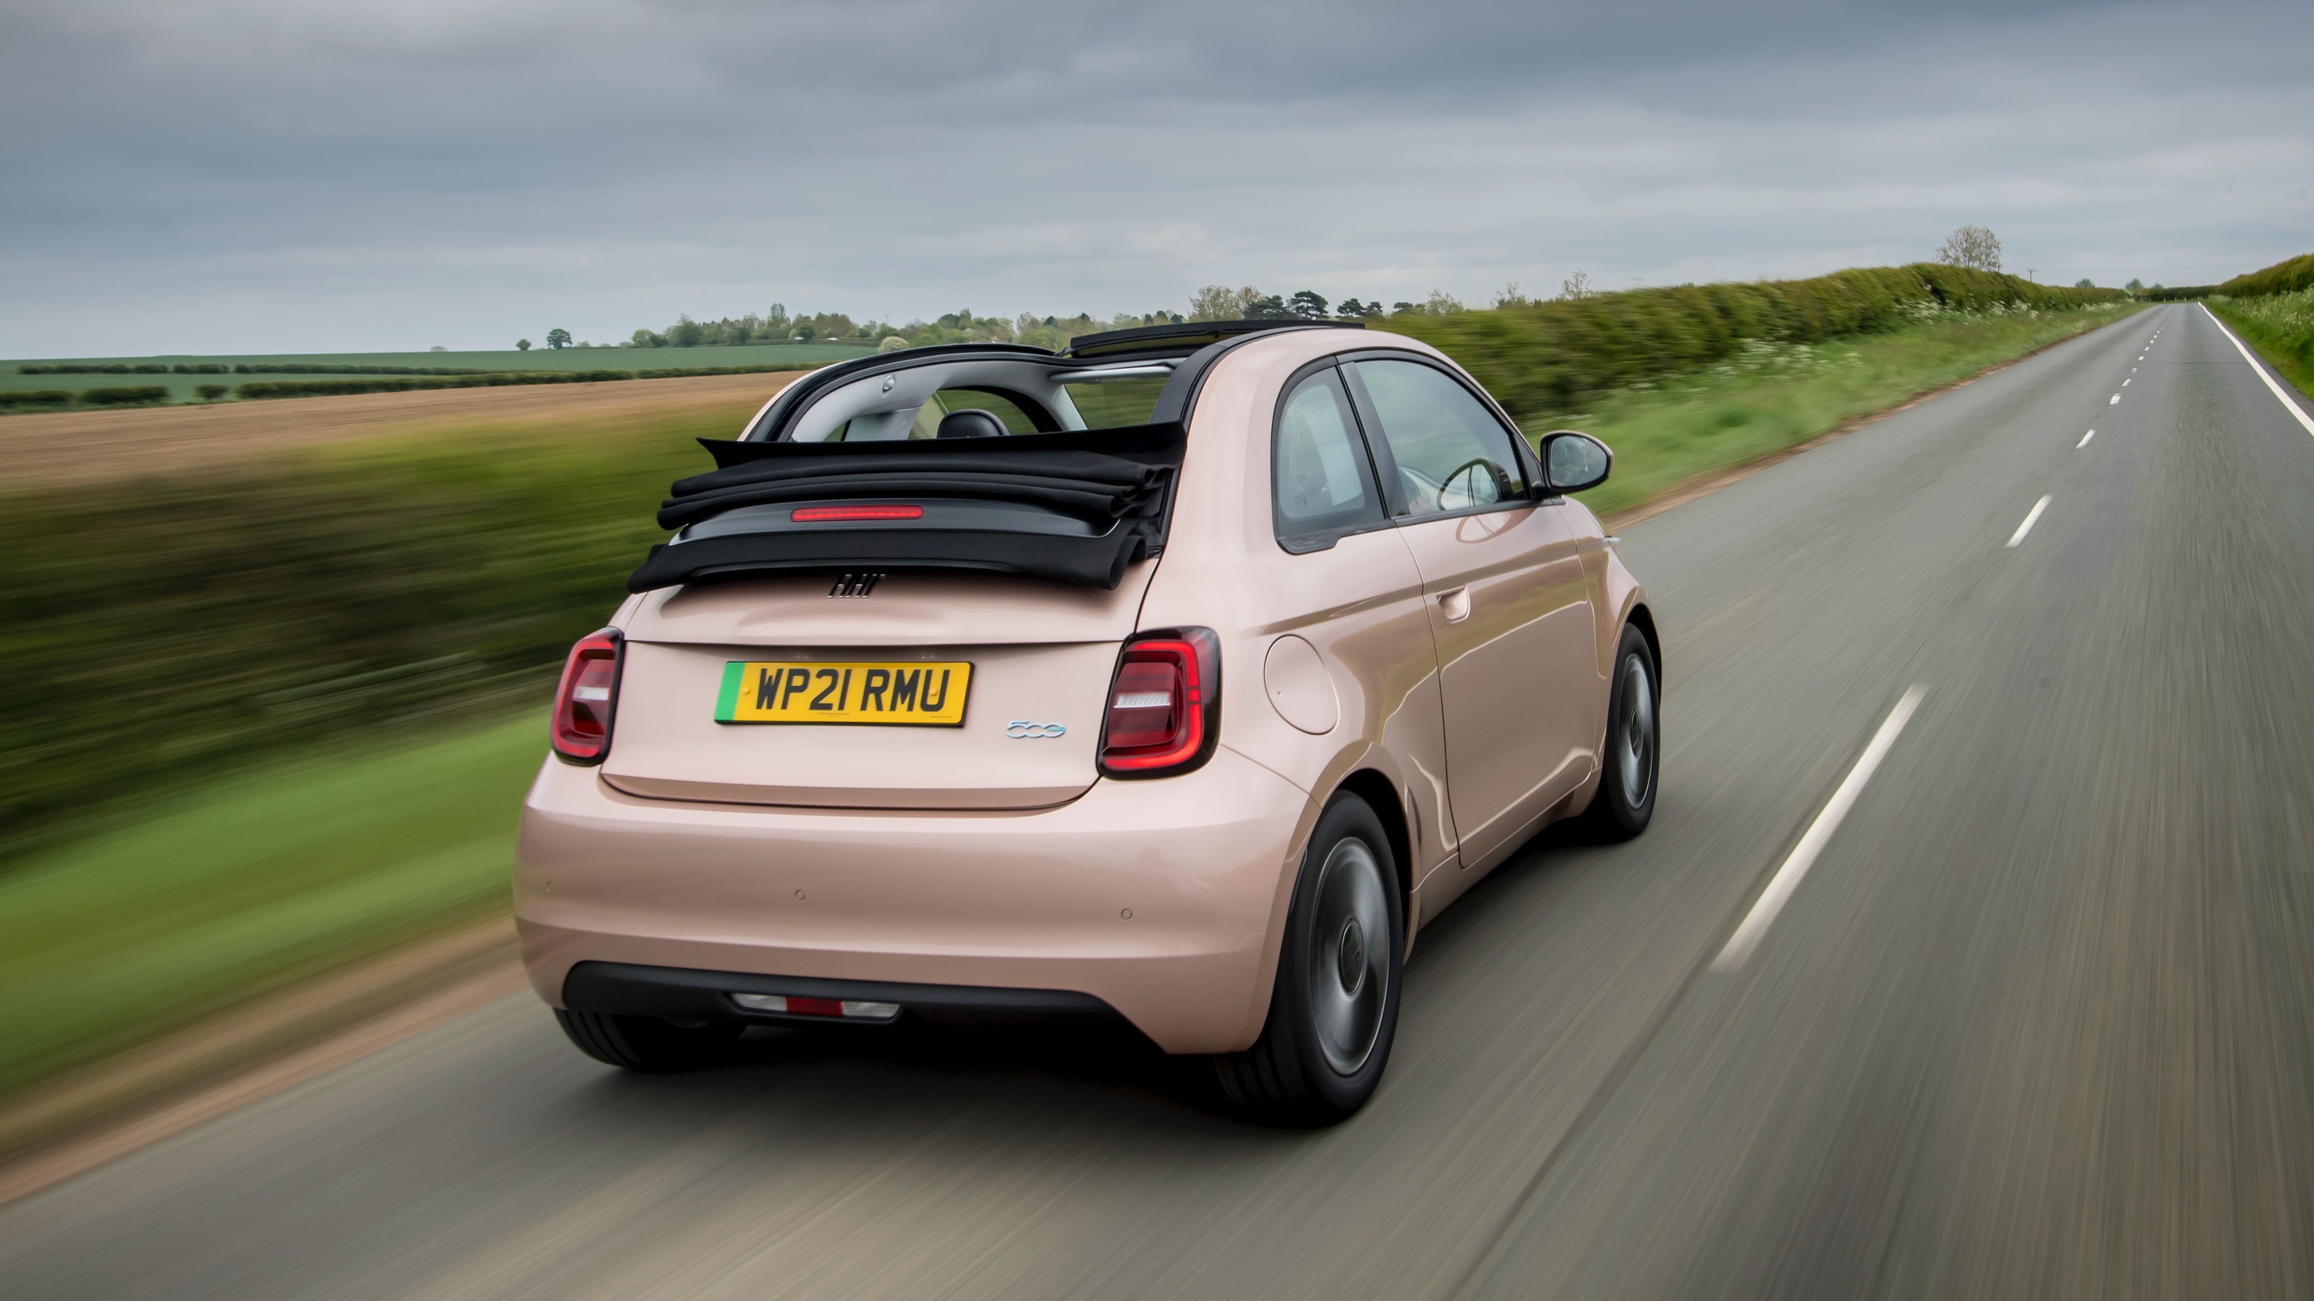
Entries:
[[[1312,817],[1305,792],[1226,748],[1030,813],[655,801],[548,759],[523,806],[516,924],[555,1007],[722,1014],[754,986],[717,972],[1046,991],[1053,1012],[1108,1007],[1166,1051],[1233,1051],[1261,1032]],[[622,977],[613,998],[578,963],[673,977]]]

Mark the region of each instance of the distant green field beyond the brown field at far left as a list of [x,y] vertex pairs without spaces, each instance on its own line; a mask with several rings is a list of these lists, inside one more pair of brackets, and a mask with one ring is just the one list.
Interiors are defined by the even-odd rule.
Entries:
[[680,366],[819,366],[865,357],[872,347],[849,343],[750,343],[736,347],[532,347],[530,352],[234,352],[169,357],[23,357],[0,361],[0,391],[21,389],[116,389],[162,384],[171,403],[197,400],[199,384],[245,384],[250,380],[322,380],[326,375],[23,375],[23,366],[447,366],[456,370],[648,370]]

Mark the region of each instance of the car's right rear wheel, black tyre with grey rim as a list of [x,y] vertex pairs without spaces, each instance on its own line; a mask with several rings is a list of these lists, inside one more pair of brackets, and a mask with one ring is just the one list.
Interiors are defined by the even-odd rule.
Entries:
[[1245,1118],[1314,1130],[1365,1107],[1398,1035],[1405,935],[1391,838],[1363,799],[1337,794],[1294,882],[1261,1037],[1213,1058]]

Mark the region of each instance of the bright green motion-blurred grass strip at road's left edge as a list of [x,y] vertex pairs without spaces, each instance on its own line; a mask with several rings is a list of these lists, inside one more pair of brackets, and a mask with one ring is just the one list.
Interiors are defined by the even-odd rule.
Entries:
[[0,1097],[504,907],[537,711],[192,787],[0,877]]

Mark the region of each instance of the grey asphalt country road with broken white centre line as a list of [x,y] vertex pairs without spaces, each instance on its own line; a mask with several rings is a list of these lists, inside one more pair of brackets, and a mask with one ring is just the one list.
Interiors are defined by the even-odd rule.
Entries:
[[2314,438],[2210,317],[1624,556],[1655,829],[1425,931],[1349,1125],[1236,1125],[1129,1044],[632,1079],[516,998],[0,1211],[0,1292],[2314,1296]]

